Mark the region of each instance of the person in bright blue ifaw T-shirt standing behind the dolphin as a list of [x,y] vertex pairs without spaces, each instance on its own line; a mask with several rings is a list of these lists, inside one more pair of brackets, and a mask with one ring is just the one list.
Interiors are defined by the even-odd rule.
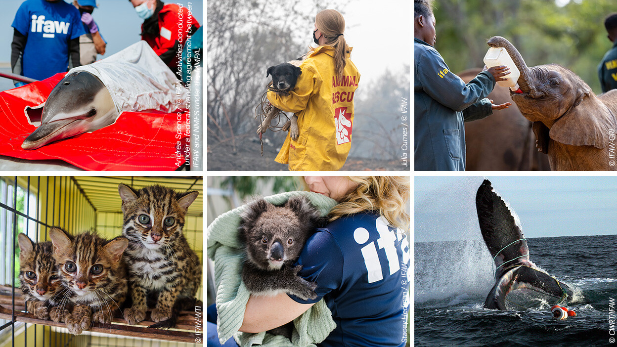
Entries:
[[[14,28],[10,65],[17,75],[44,80],[80,66],[80,12],[63,0],[24,1]],[[15,86],[25,83],[16,82]]]

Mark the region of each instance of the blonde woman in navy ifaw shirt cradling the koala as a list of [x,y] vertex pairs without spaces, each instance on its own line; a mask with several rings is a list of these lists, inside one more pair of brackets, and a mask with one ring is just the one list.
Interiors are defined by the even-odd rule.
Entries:
[[318,296],[251,296],[239,330],[258,333],[279,327],[323,298],[336,328],[318,346],[405,346],[409,178],[307,176],[305,182],[311,191],[339,202],[329,212],[329,224],[309,238],[297,262],[303,267],[299,275],[317,283]]

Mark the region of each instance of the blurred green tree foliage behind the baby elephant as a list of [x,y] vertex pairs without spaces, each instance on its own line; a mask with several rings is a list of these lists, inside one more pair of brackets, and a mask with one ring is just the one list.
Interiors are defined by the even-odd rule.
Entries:
[[436,49],[453,72],[482,67],[486,40],[499,35],[528,66],[560,64],[601,93],[597,68],[613,46],[604,19],[615,0],[436,0]]

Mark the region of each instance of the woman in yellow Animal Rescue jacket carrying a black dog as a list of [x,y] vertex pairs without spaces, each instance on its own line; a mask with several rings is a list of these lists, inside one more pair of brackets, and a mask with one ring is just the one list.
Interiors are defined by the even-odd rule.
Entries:
[[338,11],[319,12],[313,31],[319,46],[300,65],[296,88],[289,95],[268,91],[271,104],[298,117],[297,141],[288,133],[275,159],[289,164],[289,170],[338,170],[349,154],[360,73],[349,59],[344,30]]

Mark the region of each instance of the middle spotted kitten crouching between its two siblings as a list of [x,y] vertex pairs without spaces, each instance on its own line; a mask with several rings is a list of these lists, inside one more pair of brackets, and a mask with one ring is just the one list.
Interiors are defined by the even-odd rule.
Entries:
[[105,240],[93,232],[76,236],[51,228],[65,301],[73,312],[65,319],[68,332],[79,335],[92,322],[110,323],[128,293],[123,252],[128,241],[123,236]]

